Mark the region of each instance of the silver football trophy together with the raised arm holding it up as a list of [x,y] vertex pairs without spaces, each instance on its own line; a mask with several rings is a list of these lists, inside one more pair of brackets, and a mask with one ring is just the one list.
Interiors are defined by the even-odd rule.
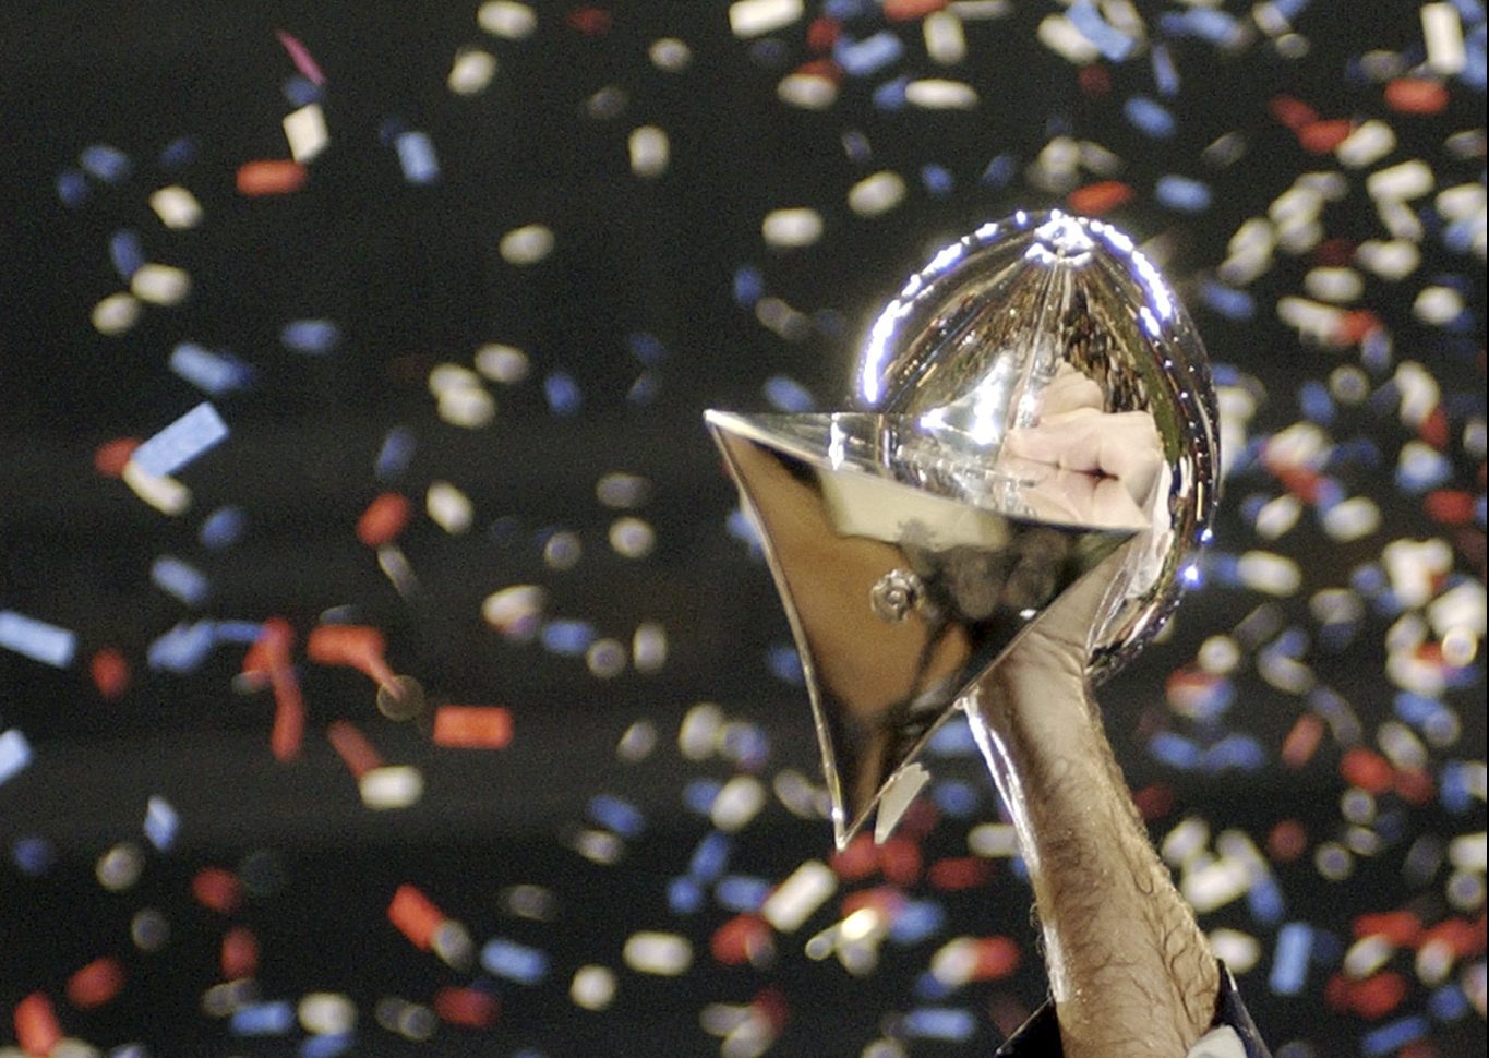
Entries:
[[1218,488],[1205,350],[1120,231],[1018,213],[877,317],[849,408],[707,423],[812,698],[832,824],[898,823],[966,713],[1013,814],[1053,1004],[1001,1054],[1266,1051],[1090,701],[1178,604]]

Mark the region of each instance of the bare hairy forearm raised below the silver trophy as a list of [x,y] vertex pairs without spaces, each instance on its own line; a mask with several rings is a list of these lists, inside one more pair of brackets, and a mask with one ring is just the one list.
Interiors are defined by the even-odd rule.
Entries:
[[1068,1058],[1181,1058],[1218,966],[1132,805],[1083,674],[999,667],[974,731],[1018,830]]

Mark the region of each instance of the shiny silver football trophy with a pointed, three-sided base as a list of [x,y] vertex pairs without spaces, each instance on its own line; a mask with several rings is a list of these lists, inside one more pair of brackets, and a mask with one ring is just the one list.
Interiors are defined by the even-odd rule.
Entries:
[[1133,658],[1217,500],[1193,324],[1126,235],[1060,213],[984,225],[913,275],[844,411],[707,423],[797,638],[838,845],[1097,567],[1090,674]]

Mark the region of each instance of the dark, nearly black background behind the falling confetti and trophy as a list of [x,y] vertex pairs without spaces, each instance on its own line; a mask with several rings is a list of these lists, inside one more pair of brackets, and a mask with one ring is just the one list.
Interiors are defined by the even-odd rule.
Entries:
[[[1385,103],[1383,85],[1359,71],[1359,57],[1371,51],[1401,55],[1406,68],[1421,62],[1416,4],[1313,3],[1295,16],[1310,46],[1301,58],[1279,55],[1276,42],[1248,21],[1248,4],[1224,4],[1245,30],[1230,46],[1161,21],[1182,4],[1139,4],[1182,79],[1164,100],[1178,129],[1161,140],[1123,116],[1130,95],[1157,95],[1148,60],[1099,62],[1109,91],[1093,91],[1091,73],[1083,86],[1077,67],[1038,42],[1036,27],[1056,6],[1033,0],[1011,4],[1004,18],[968,21],[968,57],[947,68],[925,57],[917,21],[892,22],[907,45],[904,58],[867,77],[844,77],[837,103],[822,112],[789,107],[774,91],[786,71],[814,58],[807,25],[819,12],[810,4],[767,42],[733,37],[727,4],[718,1],[539,4],[538,30],[526,40],[484,34],[476,7],[474,0],[201,9],[12,0],[0,10],[7,52],[0,73],[0,609],[77,635],[77,659],[64,670],[0,653],[0,728],[22,731],[34,751],[28,768],[0,787],[0,838],[7,850],[42,839],[52,853],[40,872],[10,859],[0,863],[0,1012],[42,991],[68,1034],[106,1049],[140,1042],[158,1055],[296,1054],[298,1030],[287,1039],[235,1039],[225,1021],[201,1010],[203,993],[219,976],[225,929],[246,924],[261,943],[264,998],[293,1003],[337,991],[357,1003],[351,1054],[713,1054],[718,1043],[698,1027],[700,1010],[770,993],[788,1010],[771,1054],[858,1055],[883,1034],[904,1037],[898,1018],[925,1001],[917,979],[941,943],[1007,934],[1023,949],[1014,976],[937,1000],[972,1010],[974,1037],[960,1045],[905,1037],[913,1055],[990,1054],[1044,988],[1029,891],[1008,863],[995,863],[986,884],[965,891],[943,891],[923,878],[907,884],[913,899],[946,909],[946,924],[914,945],[886,943],[871,975],[853,978],[835,961],[801,952],[807,936],[838,917],[835,900],[800,934],[777,940],[771,966],[719,966],[709,937],[733,912],[709,899],[694,912],[679,911],[669,906],[667,887],[686,873],[709,832],[707,817],[686,808],[685,789],[698,778],[725,780],[736,765],[688,760],[675,735],[692,704],[715,701],[768,740],[768,757],[753,765],[767,786],[782,769],[812,775],[817,766],[806,690],[780,664],[789,631],[765,568],[727,531],[734,494],[701,411],[762,408],[762,387],[777,376],[800,382],[819,406],[838,403],[874,307],[935,247],[984,219],[1065,199],[1068,189],[1041,189],[1026,176],[1050,137],[1065,132],[1121,159],[1114,179],[1135,196],[1111,219],[1163,260],[1221,379],[1258,400],[1248,424],[1252,449],[1237,461],[1217,546],[1205,560],[1208,585],[1188,598],[1167,641],[1102,692],[1118,756],[1145,792],[1155,836],[1185,817],[1206,820],[1217,833],[1239,829],[1263,850],[1281,821],[1297,821],[1307,835],[1300,857],[1273,865],[1281,917],[1258,915],[1239,899],[1202,918],[1206,929],[1228,927],[1260,942],[1261,955],[1240,984],[1279,1058],[1371,1052],[1386,1037],[1370,1034],[1403,1018],[1423,1019],[1421,1031],[1401,1030],[1409,1046],[1373,1054],[1477,1052],[1482,865],[1477,899],[1452,906],[1452,868],[1423,875],[1407,859],[1423,839],[1429,848],[1477,833],[1482,848],[1482,790],[1467,805],[1446,795],[1412,804],[1382,793],[1380,851],[1356,857],[1348,879],[1321,876],[1315,850],[1348,830],[1343,754],[1352,746],[1379,750],[1380,725],[1392,719],[1397,687],[1385,670],[1386,632],[1400,613],[1377,598],[1352,635],[1330,637],[1309,600],[1356,583],[1358,571],[1374,567],[1398,539],[1450,545],[1453,568],[1440,589],[1465,577],[1482,585],[1483,451],[1465,437],[1474,423],[1483,430],[1483,262],[1444,241],[1432,198],[1423,198],[1415,204],[1426,225],[1422,266],[1398,283],[1367,277],[1359,305],[1391,333],[1395,359],[1416,360],[1438,379],[1447,476],[1431,491],[1477,497],[1477,513],[1444,522],[1428,488],[1394,478],[1416,432],[1397,414],[1394,368],[1373,363],[1374,397],[1340,406],[1322,423],[1333,442],[1355,452],[1339,455],[1327,473],[1346,496],[1367,496],[1385,515],[1379,531],[1352,543],[1331,540],[1313,510],[1276,542],[1260,540],[1252,527],[1260,498],[1295,487],[1257,458],[1258,443],[1300,420],[1301,387],[1361,362],[1358,347],[1321,348],[1278,320],[1278,299],[1301,293],[1303,275],[1322,251],[1279,254],[1251,284],[1252,318],[1228,318],[1202,295],[1243,220],[1264,214],[1300,173],[1340,170],[1331,155],[1304,150],[1278,121],[1270,107],[1281,94],[1322,118],[1385,119],[1400,143],[1380,165],[1423,158],[1438,187],[1483,182],[1482,73],[1479,88],[1446,79],[1449,103],[1440,113],[1403,115]],[[884,27],[873,4],[828,4],[828,15],[850,37]],[[295,67],[277,30],[302,40],[326,73],[331,147],[313,164],[305,189],[249,198],[234,187],[238,167],[286,155],[280,121],[292,104],[281,89]],[[689,45],[686,70],[648,61],[646,48],[660,37]],[[445,88],[451,58],[465,46],[485,48],[500,64],[475,97]],[[874,88],[899,74],[966,80],[980,104],[968,112],[876,107]],[[585,100],[606,86],[624,92],[624,109],[594,118]],[[625,156],[628,132],[646,124],[664,128],[672,144],[670,167],[654,180],[633,176]],[[387,141],[395,128],[430,135],[436,183],[404,180]],[[1479,131],[1479,147],[1458,156],[1444,140],[1464,129]],[[850,132],[867,140],[871,159],[844,149]],[[1245,156],[1208,165],[1206,144],[1227,132],[1245,138]],[[195,158],[168,168],[159,156],[179,137],[194,141]],[[112,185],[89,177],[88,201],[68,207],[55,189],[58,174],[76,170],[79,152],[95,143],[124,150],[131,174]],[[984,171],[1002,155],[1015,167],[1011,182],[998,186]],[[932,164],[950,186],[923,179]],[[856,217],[846,192],[879,170],[904,176],[905,201],[886,216]],[[1365,173],[1343,171],[1349,193],[1325,210],[1322,223],[1328,238],[1343,241],[1334,253],[1348,256],[1349,246],[1385,235]],[[1206,180],[1212,205],[1182,213],[1157,202],[1154,185],[1169,173]],[[1080,182],[1097,179],[1084,174]],[[168,231],[149,210],[147,195],[177,182],[204,207],[200,228]],[[822,213],[822,241],[795,251],[764,246],[762,216],[797,205]],[[500,235],[535,222],[554,231],[554,253],[526,268],[503,262]],[[179,307],[146,307],[127,335],[103,336],[89,312],[124,287],[109,257],[119,229],[137,231],[150,260],[188,269],[194,289]],[[767,295],[807,314],[800,341],[761,326],[734,296],[742,268],[759,275]],[[1464,317],[1450,326],[1415,318],[1416,292],[1443,281],[1462,289]],[[334,320],[339,345],[325,356],[286,348],[281,327],[296,318]],[[639,335],[651,336],[660,353],[637,357]],[[213,397],[232,435],[179,475],[194,503],[168,518],[97,473],[94,452],[116,437],[149,436],[204,399],[165,366],[180,341],[231,350],[253,365],[256,384]],[[426,388],[430,368],[469,366],[475,350],[493,341],[523,348],[530,376],[509,387],[485,384],[497,402],[488,427],[442,423]],[[578,385],[576,414],[555,414],[545,400],[543,382],[554,373]],[[633,387],[643,375],[651,396],[639,400]],[[406,470],[378,481],[374,461],[396,426],[411,432],[417,449]],[[649,498],[633,512],[657,531],[645,560],[622,558],[606,543],[618,512],[596,500],[594,485],[613,470],[651,482]],[[401,491],[417,510],[436,479],[471,497],[475,524],[450,536],[415,513],[399,545],[420,591],[405,598],[353,530],[378,493]],[[231,548],[208,549],[198,528],[222,504],[243,509],[246,531]],[[543,562],[542,545],[555,531],[576,533],[584,545],[570,570]],[[1272,598],[1227,576],[1227,560],[1254,548],[1298,562],[1300,589]],[[162,554],[210,577],[200,612],[152,586],[150,562]],[[667,664],[602,680],[582,658],[502,638],[482,622],[481,601],[512,583],[545,588],[546,618],[587,621],[621,641],[643,621],[661,622]],[[302,640],[332,607],[350,607],[342,613],[380,628],[393,667],[415,676],[432,698],[508,707],[512,744],[497,751],[433,747],[414,728],[381,719],[360,674],[305,662],[305,750],[278,763],[268,753],[268,693],[234,689],[241,644],[219,646],[189,674],[146,664],[149,644],[180,621],[278,615]],[[1270,632],[1243,644],[1230,710],[1202,723],[1166,704],[1166,680],[1194,661],[1199,644],[1258,607],[1255,621],[1270,622]],[[1359,720],[1358,729],[1331,726],[1301,766],[1278,754],[1318,699],[1269,685],[1251,664],[1289,634],[1303,637],[1294,653]],[[88,661],[106,647],[131,667],[131,685],[118,699],[106,699],[89,679]],[[1441,702],[1461,716],[1462,737],[1429,748],[1425,771],[1434,790],[1447,772],[1483,769],[1482,662],[1453,679]],[[337,719],[354,722],[389,762],[421,768],[427,789],[418,805],[396,812],[362,807],[323,737]],[[655,725],[658,747],[627,765],[615,746],[637,720]],[[1261,759],[1251,769],[1179,769],[1155,757],[1152,737],[1160,732],[1200,746],[1252,738]],[[998,812],[975,759],[953,753],[932,760],[932,771],[943,781],[972,783],[980,804],[968,818],[928,817],[920,839],[928,865],[965,856],[971,826]],[[631,801],[646,818],[645,832],[625,841],[624,857],[610,866],[572,848],[572,835],[594,826],[587,805],[602,793]],[[168,853],[153,850],[140,830],[150,796],[180,812]],[[134,887],[107,891],[94,868],[121,842],[144,851],[146,869]],[[779,881],[803,860],[825,857],[829,842],[825,821],[797,818],[771,799],[736,836],[728,869]],[[264,863],[277,865],[274,884],[258,887],[231,918],[191,897],[191,879],[203,868],[255,878]],[[1468,875],[1458,884],[1471,887],[1474,872]],[[530,987],[491,981],[417,952],[386,918],[404,882],[465,921],[478,945],[506,936],[546,951],[546,979]],[[554,918],[505,912],[502,893],[515,884],[551,890]],[[874,884],[881,879],[846,884],[838,897]],[[130,921],[141,908],[159,909],[171,923],[171,939],[158,952],[130,942]],[[1409,949],[1377,970],[1400,975],[1398,1003],[1373,1018],[1345,1009],[1342,952],[1354,942],[1355,923],[1403,908],[1425,926],[1464,920],[1477,929],[1477,952],[1465,954],[1449,978],[1449,993],[1458,988],[1459,998],[1477,990],[1477,1012],[1421,984]],[[1284,923],[1307,923],[1321,937],[1298,996],[1269,988]],[[621,945],[639,929],[689,937],[691,970],[663,979],[624,969]],[[100,1009],[73,1009],[64,991],[68,975],[101,955],[125,967],[124,990]],[[569,1001],[569,979],[587,963],[618,973],[619,991],[606,1012]],[[487,1030],[445,1027],[432,1042],[412,1045],[375,1022],[383,997],[429,1003],[439,988],[472,984],[502,1001]],[[7,1031],[0,1028],[0,1039]]]

